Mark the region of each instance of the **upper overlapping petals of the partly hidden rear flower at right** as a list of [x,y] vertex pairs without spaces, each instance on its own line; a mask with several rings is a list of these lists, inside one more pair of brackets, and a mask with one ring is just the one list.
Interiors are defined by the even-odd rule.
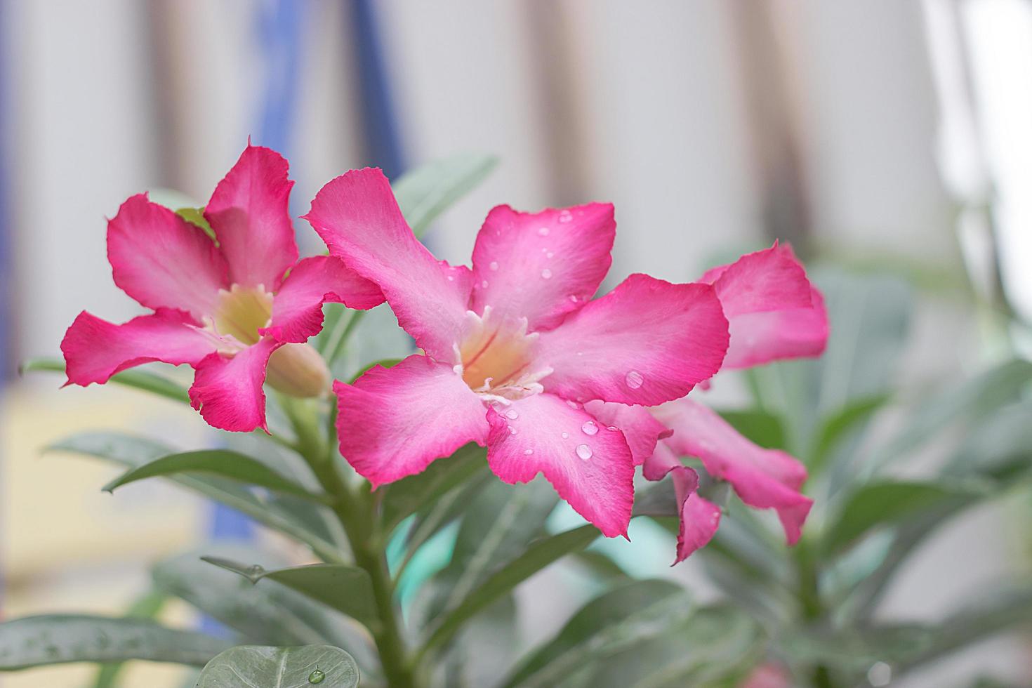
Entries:
[[819,356],[828,342],[824,298],[788,244],[742,256],[707,271],[731,330],[725,368]]

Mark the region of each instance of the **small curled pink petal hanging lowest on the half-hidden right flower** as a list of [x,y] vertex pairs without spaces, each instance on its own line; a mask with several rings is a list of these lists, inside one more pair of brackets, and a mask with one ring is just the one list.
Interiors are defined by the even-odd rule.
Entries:
[[655,448],[655,453],[645,460],[643,469],[647,480],[658,481],[671,473],[677,495],[680,527],[677,532],[677,557],[674,563],[684,561],[696,550],[713,539],[720,525],[720,507],[699,496],[699,473],[685,466],[666,445]]

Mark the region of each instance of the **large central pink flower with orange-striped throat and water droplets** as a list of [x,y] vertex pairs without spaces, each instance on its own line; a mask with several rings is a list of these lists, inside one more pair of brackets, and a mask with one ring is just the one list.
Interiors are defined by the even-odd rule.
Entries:
[[390,483],[474,441],[503,481],[544,473],[604,534],[626,534],[641,449],[594,406],[659,404],[717,371],[728,321],[713,286],[633,274],[592,299],[611,263],[609,204],[495,207],[472,269],[416,240],[378,169],[327,184],[307,219],[424,352],[334,384],[341,452],[359,473]]

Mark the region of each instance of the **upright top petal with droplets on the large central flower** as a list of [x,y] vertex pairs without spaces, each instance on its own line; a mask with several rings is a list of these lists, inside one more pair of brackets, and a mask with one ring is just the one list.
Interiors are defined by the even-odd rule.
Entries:
[[473,249],[473,309],[551,329],[594,296],[613,259],[610,203],[541,212],[493,208]]

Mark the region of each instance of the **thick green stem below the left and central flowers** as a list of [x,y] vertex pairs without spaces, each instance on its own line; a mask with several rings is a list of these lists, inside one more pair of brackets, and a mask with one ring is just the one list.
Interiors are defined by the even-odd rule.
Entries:
[[[384,677],[390,688],[418,688],[421,682],[414,670],[412,658],[401,632],[397,608],[394,605],[394,584],[387,568],[386,537],[380,531],[376,518],[376,501],[368,485],[354,489],[337,471],[336,448],[332,438],[326,441],[318,430],[318,423],[286,399],[287,416],[298,435],[301,453],[322,485],[333,497],[333,513],[341,521],[355,557],[355,565],[365,570],[373,583],[373,596],[380,623],[370,628],[373,640],[380,654]],[[298,413],[301,412],[301,413]],[[313,436],[315,435],[315,436]],[[316,451],[320,449],[320,451]]]

